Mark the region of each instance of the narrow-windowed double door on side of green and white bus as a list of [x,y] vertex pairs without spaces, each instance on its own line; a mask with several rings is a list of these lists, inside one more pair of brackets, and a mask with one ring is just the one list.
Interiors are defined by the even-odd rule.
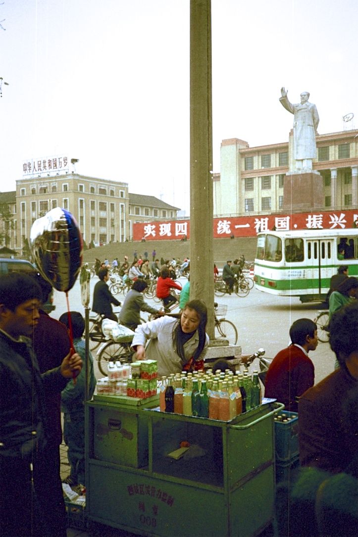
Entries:
[[310,284],[307,293],[326,294],[330,287],[332,266],[332,240],[312,238],[306,243],[307,279]]

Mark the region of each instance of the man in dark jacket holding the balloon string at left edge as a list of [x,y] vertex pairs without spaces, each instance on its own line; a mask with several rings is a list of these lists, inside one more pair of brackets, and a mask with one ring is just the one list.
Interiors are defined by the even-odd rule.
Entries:
[[[39,475],[48,439],[45,386],[61,390],[81,371],[78,354],[40,373],[31,346],[41,288],[20,273],[0,277],[0,534],[46,535]],[[46,458],[45,458],[46,459]]]

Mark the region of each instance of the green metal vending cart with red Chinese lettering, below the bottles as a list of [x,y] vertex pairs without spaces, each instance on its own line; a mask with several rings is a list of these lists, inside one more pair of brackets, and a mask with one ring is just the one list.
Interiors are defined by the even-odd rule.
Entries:
[[[221,422],[157,404],[103,396],[87,403],[88,519],[163,537],[262,532],[274,518],[273,416],[283,405]],[[181,442],[190,447],[175,459]]]

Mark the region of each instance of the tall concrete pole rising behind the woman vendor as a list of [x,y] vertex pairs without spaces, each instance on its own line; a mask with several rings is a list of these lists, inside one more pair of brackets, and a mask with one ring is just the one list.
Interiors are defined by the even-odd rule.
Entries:
[[214,339],[211,0],[190,1],[190,299],[208,308]]

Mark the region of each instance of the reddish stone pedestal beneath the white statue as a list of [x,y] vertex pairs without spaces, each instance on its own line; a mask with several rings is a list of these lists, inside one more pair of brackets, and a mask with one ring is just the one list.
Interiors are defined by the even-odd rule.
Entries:
[[283,210],[313,209],[325,205],[323,178],[318,173],[294,173],[283,179]]

